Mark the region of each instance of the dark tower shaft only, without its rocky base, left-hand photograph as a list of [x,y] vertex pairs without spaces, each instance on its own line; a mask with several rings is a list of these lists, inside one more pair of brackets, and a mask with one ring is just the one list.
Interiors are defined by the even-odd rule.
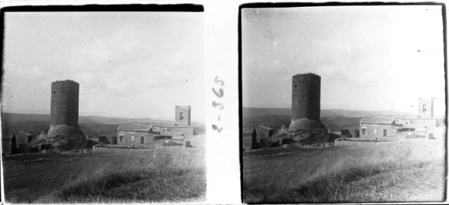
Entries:
[[65,124],[78,128],[79,84],[75,81],[51,83],[50,125]]

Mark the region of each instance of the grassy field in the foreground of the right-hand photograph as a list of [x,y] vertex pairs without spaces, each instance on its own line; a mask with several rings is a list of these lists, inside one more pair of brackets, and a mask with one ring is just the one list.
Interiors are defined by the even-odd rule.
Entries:
[[444,141],[244,152],[244,202],[420,202],[445,199]]

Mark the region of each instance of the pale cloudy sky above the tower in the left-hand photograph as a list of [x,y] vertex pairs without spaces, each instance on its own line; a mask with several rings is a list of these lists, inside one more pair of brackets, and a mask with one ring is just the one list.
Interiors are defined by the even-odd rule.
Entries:
[[204,120],[203,17],[196,12],[5,14],[4,112],[49,113],[51,82],[79,83],[80,115]]

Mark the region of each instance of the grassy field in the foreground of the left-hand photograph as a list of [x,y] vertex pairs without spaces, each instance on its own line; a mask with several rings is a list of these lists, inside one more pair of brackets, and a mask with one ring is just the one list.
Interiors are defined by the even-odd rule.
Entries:
[[151,153],[3,156],[5,200],[12,203],[205,200],[202,150],[160,148],[155,158]]

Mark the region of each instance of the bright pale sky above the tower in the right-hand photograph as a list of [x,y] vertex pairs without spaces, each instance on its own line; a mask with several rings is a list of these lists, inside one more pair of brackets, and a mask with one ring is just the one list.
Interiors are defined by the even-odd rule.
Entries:
[[[244,107],[291,107],[292,76],[321,76],[322,109],[444,113],[439,5],[246,8]],[[412,107],[413,106],[413,107]]]

